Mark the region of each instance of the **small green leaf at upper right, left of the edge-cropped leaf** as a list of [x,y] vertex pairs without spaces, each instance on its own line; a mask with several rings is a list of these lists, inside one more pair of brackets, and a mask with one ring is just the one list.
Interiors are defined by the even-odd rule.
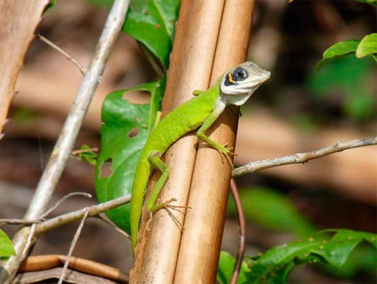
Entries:
[[317,63],[317,70],[332,60],[355,53],[359,42],[360,40],[345,40],[344,42],[337,42],[332,45],[326,49],[322,55],[322,59]]

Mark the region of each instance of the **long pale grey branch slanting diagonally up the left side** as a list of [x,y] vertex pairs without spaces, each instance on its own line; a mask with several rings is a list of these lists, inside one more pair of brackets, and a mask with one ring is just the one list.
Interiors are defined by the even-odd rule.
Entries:
[[[112,5],[93,58],[83,77],[82,85],[77,92],[75,102],[66,118],[63,129],[53,148],[45,171],[40,178],[32,201],[29,203],[29,208],[24,216],[25,220],[38,220],[47,209],[53,191],[71,156],[73,144],[77,138],[90,101],[104,73],[110,51],[114,46],[119,31],[121,31],[129,5],[130,0],[115,0]],[[0,269],[0,283],[4,283],[5,279],[8,279],[8,275],[12,275],[14,271],[18,270],[20,265],[19,257],[25,248],[29,232],[30,227],[23,227],[14,235],[12,242],[16,256],[10,257],[8,261],[3,263],[3,269]]]

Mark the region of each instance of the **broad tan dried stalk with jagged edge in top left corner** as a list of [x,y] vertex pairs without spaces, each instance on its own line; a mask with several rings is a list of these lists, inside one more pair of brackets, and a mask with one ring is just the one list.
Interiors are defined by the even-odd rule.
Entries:
[[23,57],[48,3],[48,0],[0,1],[0,135]]

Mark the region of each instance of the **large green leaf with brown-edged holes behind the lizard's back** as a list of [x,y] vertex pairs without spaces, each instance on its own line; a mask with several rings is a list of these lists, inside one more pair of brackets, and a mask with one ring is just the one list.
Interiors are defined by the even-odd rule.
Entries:
[[[136,88],[108,94],[102,105],[101,153],[95,168],[95,188],[100,203],[130,194],[136,162],[147,140],[165,84],[144,83]],[[151,93],[151,104],[137,105],[124,99],[125,92]],[[150,109],[154,109],[153,113]],[[112,209],[108,218],[130,233],[130,205]]]

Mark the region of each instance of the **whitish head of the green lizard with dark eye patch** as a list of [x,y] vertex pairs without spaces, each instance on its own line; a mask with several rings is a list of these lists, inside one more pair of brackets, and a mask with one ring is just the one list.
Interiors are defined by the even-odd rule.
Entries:
[[243,105],[270,75],[254,62],[244,62],[228,70],[220,81],[221,101],[226,105]]

